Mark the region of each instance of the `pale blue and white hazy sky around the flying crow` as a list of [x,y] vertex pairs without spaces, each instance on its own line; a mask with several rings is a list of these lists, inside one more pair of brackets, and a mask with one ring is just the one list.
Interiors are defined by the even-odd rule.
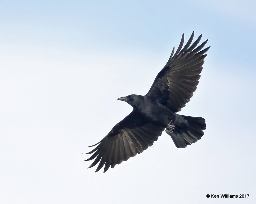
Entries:
[[[256,4],[0,1],[1,203],[255,203]],[[94,173],[86,153],[148,92],[182,33],[209,39],[180,114],[201,140],[152,147]],[[206,194],[250,194],[206,198]]]

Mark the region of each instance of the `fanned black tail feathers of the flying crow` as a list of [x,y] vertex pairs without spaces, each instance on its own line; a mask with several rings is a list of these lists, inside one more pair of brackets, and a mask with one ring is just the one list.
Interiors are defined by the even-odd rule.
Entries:
[[204,135],[203,130],[206,128],[205,120],[201,117],[190,117],[180,115],[188,121],[186,126],[175,127],[172,133],[168,133],[177,148],[185,148],[197,140],[200,140]]

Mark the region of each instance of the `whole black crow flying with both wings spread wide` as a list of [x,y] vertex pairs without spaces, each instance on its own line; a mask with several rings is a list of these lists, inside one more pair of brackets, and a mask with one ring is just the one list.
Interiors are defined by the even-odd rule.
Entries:
[[85,161],[95,159],[89,168],[98,163],[95,172],[104,165],[104,172],[110,165],[114,168],[116,164],[148,149],[164,129],[177,148],[185,148],[201,139],[206,128],[204,118],[177,114],[196,91],[205,53],[210,48],[201,50],[208,40],[197,46],[202,34],[191,45],[193,37],[194,32],[183,47],[184,33],[182,34],[177,51],[174,53],[173,47],[168,62],[145,96],[132,94],[118,98],[130,104],[133,110],[106,137],[90,146],[97,145],[86,153],[92,156]]

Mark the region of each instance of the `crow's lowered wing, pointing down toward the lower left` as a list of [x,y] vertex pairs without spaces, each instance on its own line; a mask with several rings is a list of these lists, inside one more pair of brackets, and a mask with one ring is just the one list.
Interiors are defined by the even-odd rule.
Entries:
[[121,164],[137,153],[140,154],[148,149],[148,146],[158,139],[162,131],[164,128],[148,122],[140,113],[133,110],[103,140],[95,144],[96,148],[87,153],[93,153],[93,155],[85,161],[95,158],[89,168],[100,162],[95,172],[99,171],[104,164],[104,172],[106,172],[110,165],[113,168],[116,164]]

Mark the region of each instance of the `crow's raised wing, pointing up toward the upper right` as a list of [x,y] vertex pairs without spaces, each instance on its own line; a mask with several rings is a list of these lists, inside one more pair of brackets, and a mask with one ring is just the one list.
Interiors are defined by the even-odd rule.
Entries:
[[[187,44],[181,50],[184,43],[184,33],[180,41],[180,45],[172,54],[164,66],[158,73],[154,83],[146,96],[158,101],[168,107],[174,113],[181,110],[196,91],[198,79],[203,69],[204,53],[210,48],[207,47],[200,51],[208,40],[205,40],[201,45],[196,47],[201,40],[202,34],[190,46],[194,37],[194,32],[189,38]],[[190,46],[190,47],[189,47]],[[195,48],[196,47],[196,48]],[[173,56],[172,56],[173,55]]]

